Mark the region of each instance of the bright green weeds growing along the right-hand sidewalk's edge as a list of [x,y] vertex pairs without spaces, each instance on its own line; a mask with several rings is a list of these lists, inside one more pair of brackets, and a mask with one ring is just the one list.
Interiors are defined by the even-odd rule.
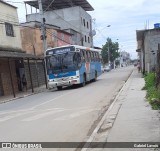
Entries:
[[160,109],[160,89],[155,86],[155,73],[146,74],[145,79],[145,89],[147,90],[147,99],[151,104],[152,108],[155,110]]

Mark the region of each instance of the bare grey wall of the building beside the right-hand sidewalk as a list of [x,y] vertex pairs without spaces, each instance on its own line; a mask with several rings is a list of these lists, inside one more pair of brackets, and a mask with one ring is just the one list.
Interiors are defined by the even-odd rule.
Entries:
[[160,43],[160,28],[137,30],[137,52],[139,53],[142,72],[155,70],[157,50]]

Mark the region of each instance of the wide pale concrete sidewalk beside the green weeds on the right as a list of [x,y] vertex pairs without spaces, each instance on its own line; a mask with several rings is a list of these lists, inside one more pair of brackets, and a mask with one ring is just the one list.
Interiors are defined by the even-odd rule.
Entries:
[[[144,79],[134,70],[93,142],[160,142],[160,111],[152,110],[142,90]],[[104,148],[88,150],[148,151],[145,148]]]

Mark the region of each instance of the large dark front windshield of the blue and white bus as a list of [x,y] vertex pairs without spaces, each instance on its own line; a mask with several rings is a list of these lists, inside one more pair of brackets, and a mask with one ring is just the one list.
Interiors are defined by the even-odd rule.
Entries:
[[55,54],[47,58],[47,69],[49,74],[78,70],[80,54],[67,52]]

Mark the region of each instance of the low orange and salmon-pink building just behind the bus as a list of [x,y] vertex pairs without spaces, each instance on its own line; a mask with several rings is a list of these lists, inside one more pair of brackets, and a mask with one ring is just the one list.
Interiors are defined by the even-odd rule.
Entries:
[[[22,48],[28,54],[44,55],[40,27],[41,23],[37,21],[21,24]],[[46,36],[48,48],[72,44],[72,34],[60,30],[57,26],[46,24]]]

